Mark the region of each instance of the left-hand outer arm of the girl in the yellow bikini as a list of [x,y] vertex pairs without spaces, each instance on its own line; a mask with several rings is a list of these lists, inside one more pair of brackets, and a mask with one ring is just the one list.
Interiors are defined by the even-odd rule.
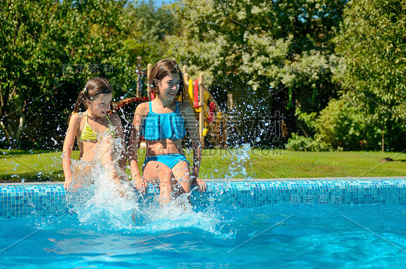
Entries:
[[69,121],[69,126],[67,127],[65,140],[63,141],[63,151],[62,151],[62,168],[63,174],[65,175],[65,182],[63,187],[67,189],[69,184],[72,182],[72,169],[71,169],[71,155],[73,145],[75,143],[76,133],[78,132],[80,125],[80,116],[75,113],[72,115]]

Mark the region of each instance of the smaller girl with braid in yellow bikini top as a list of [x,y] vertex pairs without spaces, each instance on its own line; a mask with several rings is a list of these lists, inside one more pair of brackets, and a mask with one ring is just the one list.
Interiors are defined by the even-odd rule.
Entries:
[[[101,161],[101,165],[108,166],[115,182],[125,178],[125,173],[117,171],[113,163],[114,154],[119,154],[119,167],[124,170],[127,159],[123,151],[113,147],[113,139],[121,139],[121,149],[124,149],[125,141],[120,118],[116,114],[107,115],[113,108],[112,97],[112,87],[104,78],[90,79],[79,93],[72,115],[68,119],[69,127],[63,142],[62,166],[65,189],[73,180],[81,184],[81,181],[89,177],[92,170],[97,169],[94,163],[96,157]],[[81,104],[84,104],[87,109],[84,113],[78,113]],[[73,165],[72,171],[71,154],[75,137],[78,141],[81,162]]]

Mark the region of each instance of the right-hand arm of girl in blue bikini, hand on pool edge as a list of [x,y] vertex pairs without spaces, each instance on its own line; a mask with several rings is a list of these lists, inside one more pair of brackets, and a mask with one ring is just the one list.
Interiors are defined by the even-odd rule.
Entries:
[[193,171],[191,174],[192,181],[200,187],[201,191],[206,191],[207,185],[206,182],[202,179],[199,179],[199,170],[201,162],[201,140],[199,136],[199,124],[196,121],[194,116],[193,108],[189,103],[184,104],[185,111],[185,124],[186,128],[189,131],[190,139],[192,140],[193,146]]

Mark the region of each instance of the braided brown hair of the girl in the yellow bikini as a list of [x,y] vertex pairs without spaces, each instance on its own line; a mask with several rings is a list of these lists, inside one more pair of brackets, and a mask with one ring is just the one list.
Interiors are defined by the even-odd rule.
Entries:
[[[80,105],[83,104],[85,109],[87,109],[86,99],[94,100],[96,99],[97,95],[102,93],[112,93],[113,88],[111,87],[109,81],[103,77],[92,78],[86,82],[85,87],[83,90],[80,91],[78,100],[76,101],[75,106],[73,107],[73,112],[79,112]],[[113,111],[113,105],[110,103],[110,110]],[[67,118],[67,124],[69,125],[69,121],[71,120],[71,116]]]

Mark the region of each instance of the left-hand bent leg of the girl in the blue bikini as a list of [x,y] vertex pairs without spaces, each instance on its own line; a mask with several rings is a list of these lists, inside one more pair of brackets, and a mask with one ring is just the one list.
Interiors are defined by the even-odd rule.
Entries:
[[175,183],[172,170],[165,164],[159,161],[149,161],[144,169],[144,179],[159,187],[159,198],[161,203],[168,203],[171,200],[173,193],[172,185]]

